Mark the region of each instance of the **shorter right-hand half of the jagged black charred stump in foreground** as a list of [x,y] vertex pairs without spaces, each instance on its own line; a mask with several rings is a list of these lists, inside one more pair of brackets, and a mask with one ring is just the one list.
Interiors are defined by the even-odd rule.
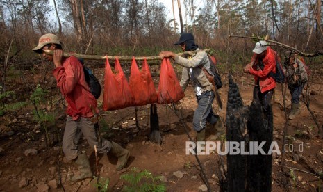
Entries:
[[[263,113],[257,94],[250,106],[250,118],[247,125],[250,141],[265,142],[265,154],[248,155],[247,157],[247,191],[272,191],[272,154],[269,153],[272,144],[272,108],[268,114]],[[249,141],[249,143],[250,143]],[[256,146],[256,145],[255,145]],[[256,152],[256,150],[255,150]]]

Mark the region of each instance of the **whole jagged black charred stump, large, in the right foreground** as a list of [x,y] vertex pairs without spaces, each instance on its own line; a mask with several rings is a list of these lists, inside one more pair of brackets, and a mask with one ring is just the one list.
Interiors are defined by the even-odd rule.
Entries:
[[[226,137],[229,141],[227,155],[226,185],[222,191],[271,191],[272,154],[268,154],[272,143],[272,109],[263,113],[259,98],[254,95],[251,106],[243,106],[236,83],[229,75],[228,105],[226,109]],[[240,153],[234,152],[231,143],[239,143]],[[254,155],[255,142],[265,154]],[[250,150],[249,150],[250,147]],[[242,154],[245,152],[247,154]],[[225,183],[224,182],[224,183]]]

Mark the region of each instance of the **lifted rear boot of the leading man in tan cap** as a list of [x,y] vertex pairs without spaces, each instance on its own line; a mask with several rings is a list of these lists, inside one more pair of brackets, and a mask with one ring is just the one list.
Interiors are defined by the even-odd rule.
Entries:
[[117,170],[122,170],[126,166],[130,155],[129,150],[124,149],[119,144],[111,141],[111,150],[108,153],[112,153],[118,158]]

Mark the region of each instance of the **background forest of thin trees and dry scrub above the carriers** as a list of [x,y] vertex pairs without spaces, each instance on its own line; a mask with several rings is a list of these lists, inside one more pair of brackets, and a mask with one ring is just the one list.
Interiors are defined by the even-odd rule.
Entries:
[[[172,12],[181,1],[183,22],[179,24]],[[167,11],[165,3],[173,3],[173,10]],[[6,56],[9,61],[13,56],[28,60],[27,55],[32,55],[28,53],[44,33],[56,33],[66,50],[80,54],[156,55],[160,49],[174,49],[179,26],[194,33],[201,47],[243,57],[249,56],[254,43],[229,39],[229,35],[269,35],[270,39],[301,51],[322,49],[320,0],[210,0],[202,6],[197,3],[0,0],[0,62],[5,62]],[[167,15],[174,15],[174,19],[167,19]]]

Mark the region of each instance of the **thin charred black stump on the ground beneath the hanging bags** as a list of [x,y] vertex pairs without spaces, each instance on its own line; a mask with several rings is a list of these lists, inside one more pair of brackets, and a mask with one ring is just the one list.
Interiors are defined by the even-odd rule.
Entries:
[[162,143],[162,138],[159,129],[159,119],[157,114],[157,104],[150,105],[150,134],[149,141],[154,141],[159,145]]

